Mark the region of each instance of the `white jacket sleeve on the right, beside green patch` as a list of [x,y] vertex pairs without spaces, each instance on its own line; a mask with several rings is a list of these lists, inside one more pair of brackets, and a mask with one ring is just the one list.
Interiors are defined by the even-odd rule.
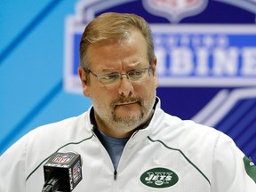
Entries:
[[220,134],[212,156],[212,192],[256,191],[256,166],[227,135]]

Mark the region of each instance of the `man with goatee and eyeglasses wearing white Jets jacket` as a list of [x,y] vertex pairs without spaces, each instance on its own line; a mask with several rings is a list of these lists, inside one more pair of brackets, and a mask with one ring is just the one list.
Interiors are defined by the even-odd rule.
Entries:
[[43,165],[55,151],[82,156],[83,180],[74,191],[256,191],[256,167],[233,140],[160,108],[145,20],[114,12],[92,20],[80,62],[92,108],[39,127],[9,148],[0,160],[1,192],[40,191]]

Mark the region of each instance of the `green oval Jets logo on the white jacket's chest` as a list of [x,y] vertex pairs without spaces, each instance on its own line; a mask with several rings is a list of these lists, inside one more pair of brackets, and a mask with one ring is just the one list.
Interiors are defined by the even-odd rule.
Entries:
[[175,185],[178,180],[175,172],[163,167],[150,169],[140,176],[140,181],[151,188],[168,188]]

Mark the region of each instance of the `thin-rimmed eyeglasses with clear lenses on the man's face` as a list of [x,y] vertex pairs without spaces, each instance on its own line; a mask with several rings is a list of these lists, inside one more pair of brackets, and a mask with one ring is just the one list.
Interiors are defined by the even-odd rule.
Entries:
[[93,76],[96,76],[98,78],[98,82],[101,86],[118,84],[123,78],[122,76],[124,75],[132,82],[146,81],[150,77],[150,71],[151,68],[140,68],[128,71],[127,73],[110,73],[104,75],[97,75],[89,69],[89,72],[92,73]]

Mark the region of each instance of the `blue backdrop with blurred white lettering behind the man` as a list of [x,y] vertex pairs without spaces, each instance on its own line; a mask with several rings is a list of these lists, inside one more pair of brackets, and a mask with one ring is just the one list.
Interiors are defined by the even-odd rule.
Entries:
[[152,26],[164,110],[226,132],[255,161],[255,1],[0,4],[0,155],[37,126],[89,108],[76,73],[79,37],[110,11],[137,13]]

